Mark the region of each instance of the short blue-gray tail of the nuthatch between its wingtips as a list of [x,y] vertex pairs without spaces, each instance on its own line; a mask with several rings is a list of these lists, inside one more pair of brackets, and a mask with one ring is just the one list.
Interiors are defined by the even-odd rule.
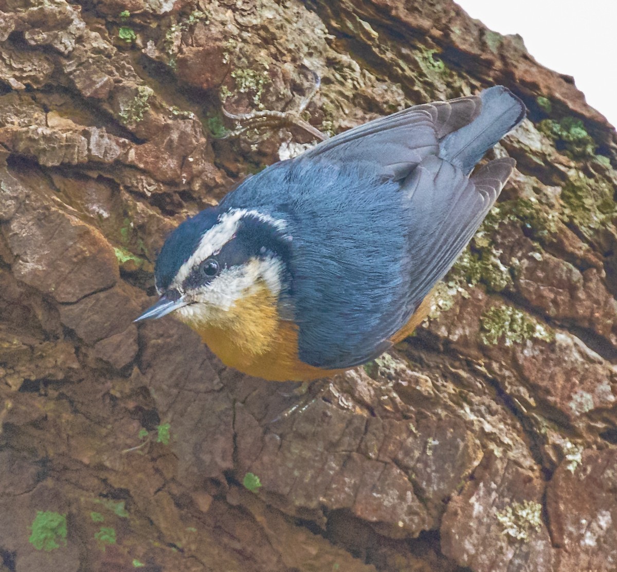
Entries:
[[525,104],[502,85],[484,89],[480,99],[478,117],[439,142],[439,157],[465,173],[470,173],[484,153],[525,117]]

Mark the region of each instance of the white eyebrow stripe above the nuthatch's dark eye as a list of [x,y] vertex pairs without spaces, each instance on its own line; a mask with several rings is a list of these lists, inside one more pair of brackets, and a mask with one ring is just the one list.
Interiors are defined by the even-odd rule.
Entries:
[[183,291],[182,283],[188,278],[191,270],[213,254],[218,254],[223,246],[236,236],[241,218],[247,215],[259,218],[278,230],[286,228],[284,220],[273,218],[257,210],[231,209],[222,213],[218,217],[218,223],[205,231],[191,257],[180,267],[173,279],[172,287]]

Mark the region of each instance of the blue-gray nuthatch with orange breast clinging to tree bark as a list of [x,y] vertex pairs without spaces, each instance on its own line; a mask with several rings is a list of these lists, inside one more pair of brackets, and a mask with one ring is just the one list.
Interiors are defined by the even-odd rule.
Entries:
[[475,167],[525,115],[492,86],[377,118],[249,176],[168,236],[159,301],[135,321],[173,312],[225,365],[270,381],[376,359],[428,315],[515,160]]

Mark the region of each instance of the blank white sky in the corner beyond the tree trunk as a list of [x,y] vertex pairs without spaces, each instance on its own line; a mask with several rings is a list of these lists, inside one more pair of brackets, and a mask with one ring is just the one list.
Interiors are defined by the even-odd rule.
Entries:
[[617,126],[617,0],[455,0],[472,18],[502,35],[520,34],[542,65],[574,76]]

